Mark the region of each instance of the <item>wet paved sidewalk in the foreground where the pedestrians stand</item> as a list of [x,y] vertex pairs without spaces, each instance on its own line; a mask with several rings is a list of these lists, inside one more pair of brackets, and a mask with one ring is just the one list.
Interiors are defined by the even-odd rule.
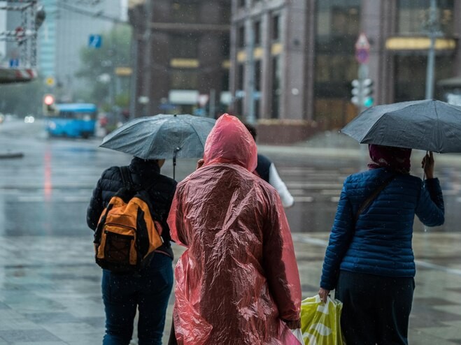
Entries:
[[[318,291],[328,235],[293,234],[302,298]],[[417,261],[410,344],[459,345],[461,255],[447,243],[460,243],[461,233],[418,233],[413,242],[415,253],[423,259]],[[24,250],[26,243],[28,250]],[[173,245],[173,251],[176,263],[184,248]],[[5,237],[0,243],[0,261],[8,263],[0,265],[0,345],[101,344],[101,269],[92,257],[91,234]],[[169,337],[173,303],[172,294],[163,344]],[[136,330],[131,344],[137,344]]]

